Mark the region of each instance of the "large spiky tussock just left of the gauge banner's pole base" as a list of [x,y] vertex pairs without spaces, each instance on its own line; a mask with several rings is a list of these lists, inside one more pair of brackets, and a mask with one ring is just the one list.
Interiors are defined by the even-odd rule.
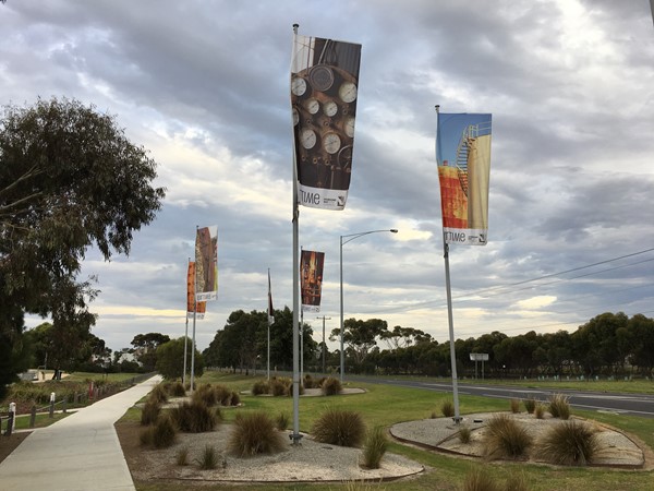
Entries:
[[228,442],[231,454],[251,457],[274,454],[283,448],[283,435],[265,412],[251,412],[234,420],[234,429]]

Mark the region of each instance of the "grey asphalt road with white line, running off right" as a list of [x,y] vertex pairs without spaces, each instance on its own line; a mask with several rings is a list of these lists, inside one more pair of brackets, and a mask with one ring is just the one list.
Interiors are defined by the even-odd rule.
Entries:
[[[346,376],[346,381],[362,381],[378,384],[400,385],[404,387],[423,388],[435,392],[452,392],[451,383],[439,383],[429,381],[404,381],[385,378]],[[475,395],[483,397],[497,397],[500,399],[525,399],[533,397],[536,400],[547,400],[552,394],[565,394],[569,396],[572,407],[601,412],[614,412],[619,415],[641,416],[654,418],[654,383],[652,395],[649,394],[620,394],[614,392],[570,391],[556,388],[528,388],[516,386],[499,386],[459,383],[459,395]]]

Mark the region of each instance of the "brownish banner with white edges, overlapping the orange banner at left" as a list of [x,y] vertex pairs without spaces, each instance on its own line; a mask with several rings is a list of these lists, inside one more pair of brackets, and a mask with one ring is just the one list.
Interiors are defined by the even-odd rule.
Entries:
[[218,227],[198,228],[195,236],[196,300],[218,298]]

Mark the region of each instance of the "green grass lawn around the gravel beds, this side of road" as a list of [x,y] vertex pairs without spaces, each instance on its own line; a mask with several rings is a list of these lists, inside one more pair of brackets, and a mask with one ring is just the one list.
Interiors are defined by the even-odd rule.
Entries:
[[[237,391],[250,390],[256,380],[262,376],[244,376],[237,374],[223,374],[219,372],[207,372],[197,384],[211,383],[227,385]],[[364,388],[365,394],[339,395],[330,397],[301,397],[299,404],[300,431],[311,433],[311,428],[316,418],[328,407],[347,408],[360,411],[366,426],[390,426],[417,419],[429,418],[433,412],[440,415],[440,404],[451,398],[450,394],[435,393],[424,390],[397,387],[390,385],[350,383],[346,386]],[[571,387],[574,388],[574,387]],[[577,387],[579,388],[579,387]],[[622,388],[614,388],[622,391]],[[293,420],[292,397],[254,397],[242,395],[243,406],[237,409],[226,409],[222,415],[226,421],[231,421],[237,412],[263,410],[270,416],[286,412],[289,416],[290,427]],[[509,402],[486,397],[460,397],[461,414],[486,412],[496,410],[509,410]],[[594,411],[581,411],[572,409],[573,415],[595,419],[611,424],[618,429],[633,433],[647,445],[654,447],[654,419],[625,417]],[[125,419],[140,418],[140,411],[132,409]],[[532,465],[524,463],[485,463],[460,457],[453,457],[435,452],[428,452],[400,443],[391,443],[389,451],[401,454],[423,464],[428,471],[410,480],[390,481],[383,483],[366,484],[302,484],[289,483],[280,486],[266,486],[270,490],[304,490],[304,489],[349,489],[349,490],[457,490],[460,489],[465,476],[474,468],[481,467],[484,472],[493,476],[499,482],[504,482],[511,474],[522,474],[529,482],[529,489],[534,491],[564,491],[564,490],[611,490],[611,491],[650,491],[654,482],[653,471],[632,470],[607,470],[603,468],[561,468],[544,465]],[[229,489],[246,489],[249,486],[229,487]],[[186,486],[156,486],[138,487],[140,490],[182,490]],[[203,489],[225,490],[225,484],[207,487]]]

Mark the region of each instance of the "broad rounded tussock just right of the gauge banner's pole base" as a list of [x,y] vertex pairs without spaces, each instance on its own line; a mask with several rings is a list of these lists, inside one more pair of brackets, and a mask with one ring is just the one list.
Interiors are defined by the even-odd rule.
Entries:
[[314,422],[312,433],[322,443],[360,446],[365,435],[365,424],[359,412],[329,408]]

